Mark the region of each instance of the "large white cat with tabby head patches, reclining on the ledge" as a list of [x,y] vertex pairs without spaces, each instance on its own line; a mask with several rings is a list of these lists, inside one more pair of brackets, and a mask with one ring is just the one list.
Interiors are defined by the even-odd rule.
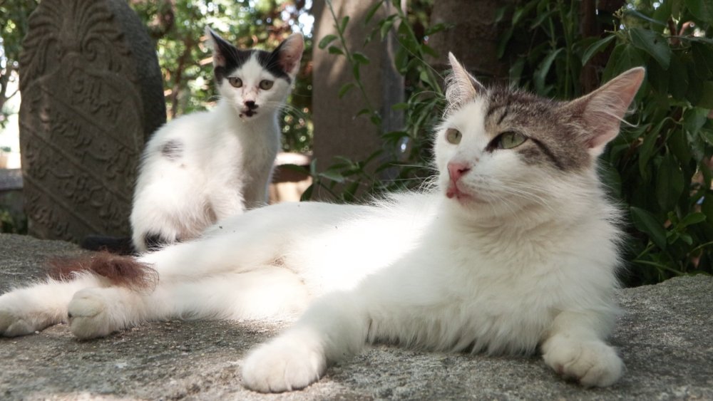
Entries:
[[596,160],[644,71],[560,103],[484,88],[452,55],[451,65],[434,191],[364,206],[277,204],[138,259],[72,265],[72,279],[0,296],[0,333],[67,316],[75,335],[93,338],[167,318],[302,313],[246,358],[245,386],[307,386],[374,341],[488,354],[539,346],[558,373],[611,385],[624,368],[605,343],[619,213]]

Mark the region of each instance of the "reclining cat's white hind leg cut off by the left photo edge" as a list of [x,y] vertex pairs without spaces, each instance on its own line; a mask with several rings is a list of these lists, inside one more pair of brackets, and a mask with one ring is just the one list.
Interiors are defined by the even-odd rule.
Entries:
[[82,274],[71,281],[48,279],[0,296],[0,335],[14,337],[42,330],[67,319],[67,304],[82,288],[98,286],[99,279]]

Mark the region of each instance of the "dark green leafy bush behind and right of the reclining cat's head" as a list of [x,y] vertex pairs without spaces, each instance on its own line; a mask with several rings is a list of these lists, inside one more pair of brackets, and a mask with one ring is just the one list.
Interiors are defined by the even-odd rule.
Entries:
[[[580,2],[512,9],[501,56],[511,80],[555,98],[581,95],[604,55],[602,82],[635,66],[647,78],[622,135],[602,155],[607,187],[627,209],[630,285],[713,272],[713,6],[706,0],[628,1],[584,37]],[[609,21],[607,21],[609,19]]]

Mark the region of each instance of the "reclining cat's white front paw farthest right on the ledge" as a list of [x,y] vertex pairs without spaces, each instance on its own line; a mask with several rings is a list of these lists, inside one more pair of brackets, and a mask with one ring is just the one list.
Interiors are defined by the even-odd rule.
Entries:
[[614,384],[624,372],[624,363],[614,348],[602,341],[551,338],[545,363],[560,375],[572,377],[585,387]]

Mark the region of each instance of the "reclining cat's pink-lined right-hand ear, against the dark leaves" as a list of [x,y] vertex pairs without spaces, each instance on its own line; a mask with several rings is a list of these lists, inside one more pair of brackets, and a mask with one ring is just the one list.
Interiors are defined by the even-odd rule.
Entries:
[[644,81],[645,69],[632,68],[589,95],[568,103],[569,113],[581,123],[590,154],[600,155],[605,145],[619,134],[620,123]]

